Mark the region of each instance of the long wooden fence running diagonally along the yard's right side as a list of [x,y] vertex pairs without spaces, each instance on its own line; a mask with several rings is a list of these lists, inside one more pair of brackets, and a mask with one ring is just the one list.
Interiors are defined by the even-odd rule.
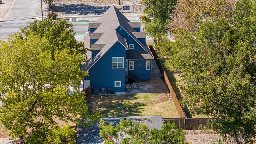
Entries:
[[187,118],[183,108],[180,106],[180,103],[179,103],[179,100],[174,92],[174,90],[172,89],[172,86],[170,84],[170,81],[166,75],[166,72],[164,71],[164,68],[162,67],[162,64],[158,58],[158,55],[156,54],[156,51],[154,50],[153,46],[149,46],[153,56],[154,56],[154,59],[156,61],[156,64],[160,70],[160,73],[162,74],[163,78],[164,78],[164,82],[166,83],[168,89],[169,89],[169,92],[170,92],[170,95],[172,96],[172,100],[173,100],[173,103],[178,111],[178,114],[180,116],[180,118]]

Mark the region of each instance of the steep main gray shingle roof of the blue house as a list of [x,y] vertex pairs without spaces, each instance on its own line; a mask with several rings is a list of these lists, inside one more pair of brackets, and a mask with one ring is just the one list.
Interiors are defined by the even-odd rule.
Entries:
[[[96,23],[101,23],[99,27],[93,33],[103,33],[99,40],[95,44],[106,44],[102,50],[96,54],[92,59],[88,59],[86,62],[86,70],[89,70],[117,41],[119,41],[125,48],[127,48],[126,40],[116,31],[118,26],[122,26],[124,30],[132,37],[134,40],[142,46],[149,54],[151,54],[149,48],[144,46],[132,32],[136,32],[130,24],[130,22],[118,9],[111,6],[97,21]],[[90,33],[90,38],[91,34]],[[85,37],[88,38],[88,37]],[[85,40],[86,42],[87,40]]]

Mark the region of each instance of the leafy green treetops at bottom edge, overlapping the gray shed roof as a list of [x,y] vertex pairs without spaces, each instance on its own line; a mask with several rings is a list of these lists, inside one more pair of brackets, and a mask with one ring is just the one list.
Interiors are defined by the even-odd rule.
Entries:
[[170,122],[158,130],[130,119],[122,119],[116,126],[100,120],[99,128],[105,144],[183,144],[185,139],[185,132]]

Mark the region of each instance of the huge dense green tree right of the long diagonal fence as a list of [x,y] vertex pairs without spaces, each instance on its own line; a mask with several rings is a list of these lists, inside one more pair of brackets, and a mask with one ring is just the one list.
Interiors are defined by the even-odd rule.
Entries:
[[[246,143],[256,125],[256,4],[238,0],[231,18],[179,29],[167,42],[165,66],[183,76],[182,98],[193,114],[216,118],[214,130]],[[239,141],[241,140],[241,141]]]

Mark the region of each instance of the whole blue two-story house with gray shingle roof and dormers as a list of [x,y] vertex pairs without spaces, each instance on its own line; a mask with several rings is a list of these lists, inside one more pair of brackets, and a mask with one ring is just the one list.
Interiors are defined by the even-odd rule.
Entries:
[[114,6],[95,23],[89,23],[84,42],[90,51],[87,62],[81,66],[81,70],[89,73],[84,83],[92,88],[110,88],[115,94],[125,94],[128,79],[151,78],[153,57],[140,25],[140,22],[130,22]]

